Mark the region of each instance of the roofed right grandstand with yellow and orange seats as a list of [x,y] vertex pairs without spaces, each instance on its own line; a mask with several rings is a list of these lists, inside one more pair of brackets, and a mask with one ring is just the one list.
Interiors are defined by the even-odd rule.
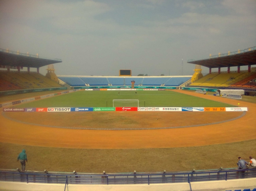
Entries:
[[[187,84],[187,86],[256,90],[256,68],[251,68],[256,63],[255,50],[256,46],[210,56],[208,59],[189,60],[188,63],[208,67],[209,74]],[[240,66],[248,66],[248,70],[240,71]],[[226,72],[220,72],[220,68],[223,67],[227,67]],[[237,67],[237,71],[231,72],[230,67]],[[218,68],[218,72],[211,72],[212,68]]]

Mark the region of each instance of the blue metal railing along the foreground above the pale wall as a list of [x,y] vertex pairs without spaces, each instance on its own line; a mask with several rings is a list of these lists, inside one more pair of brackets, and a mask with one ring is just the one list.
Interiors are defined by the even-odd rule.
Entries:
[[256,178],[256,168],[243,170],[192,171],[138,174],[51,174],[0,171],[1,181],[58,184],[158,184]]

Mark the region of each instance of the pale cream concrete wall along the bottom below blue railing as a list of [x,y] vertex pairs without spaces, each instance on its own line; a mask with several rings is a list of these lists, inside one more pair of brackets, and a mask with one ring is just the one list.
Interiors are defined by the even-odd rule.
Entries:
[[[208,190],[208,189],[226,189],[235,187],[256,188],[256,178],[220,180],[191,183],[192,190]],[[23,183],[23,182],[4,182],[0,181],[0,189],[15,191],[63,191],[64,184],[39,184],[39,183]],[[135,184],[135,185],[76,185],[69,184],[67,191],[187,191],[190,190],[189,183],[172,183],[172,184]]]

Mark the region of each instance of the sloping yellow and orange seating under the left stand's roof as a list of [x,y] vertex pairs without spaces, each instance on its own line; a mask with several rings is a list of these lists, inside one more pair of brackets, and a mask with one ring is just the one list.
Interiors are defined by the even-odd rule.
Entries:
[[0,90],[61,87],[57,82],[35,72],[0,72]]

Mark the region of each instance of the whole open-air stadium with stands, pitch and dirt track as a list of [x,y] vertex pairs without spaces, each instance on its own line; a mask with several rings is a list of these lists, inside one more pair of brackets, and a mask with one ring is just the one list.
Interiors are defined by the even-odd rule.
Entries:
[[[255,186],[256,168],[230,160],[255,156],[256,46],[188,60],[194,74],[182,76],[56,75],[62,60],[8,49],[0,60],[1,189]],[[24,147],[26,171],[11,160]]]

